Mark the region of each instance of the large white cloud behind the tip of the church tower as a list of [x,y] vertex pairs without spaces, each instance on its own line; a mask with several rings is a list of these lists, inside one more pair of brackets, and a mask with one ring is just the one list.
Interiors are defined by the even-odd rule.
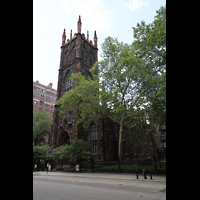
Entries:
[[81,15],[82,23],[89,29],[106,30],[110,27],[111,11],[104,9],[100,0],[61,0],[65,14]]

